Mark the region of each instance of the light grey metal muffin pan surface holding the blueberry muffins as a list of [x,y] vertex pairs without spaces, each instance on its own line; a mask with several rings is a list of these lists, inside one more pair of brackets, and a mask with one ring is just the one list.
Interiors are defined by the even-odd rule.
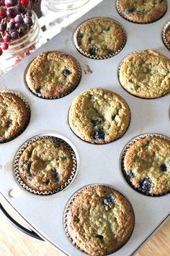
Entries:
[[[76,50],[71,40],[73,32],[84,20],[92,17],[109,17],[125,27],[128,40],[119,54],[110,59],[94,60],[86,58]],[[86,185],[104,183],[114,186],[120,189],[133,205],[135,229],[128,243],[115,252],[114,256],[135,253],[169,216],[170,195],[146,197],[132,189],[122,177],[120,155],[125,145],[140,134],[152,132],[170,135],[170,94],[153,100],[136,98],[120,86],[117,77],[120,62],[132,51],[153,48],[170,58],[170,52],[161,38],[161,31],[169,17],[170,8],[161,20],[138,25],[128,22],[117,13],[115,1],[102,1],[0,78],[0,89],[21,93],[27,99],[31,109],[30,124],[22,135],[0,145],[0,192],[29,223],[31,229],[66,255],[84,255],[84,252],[76,249],[66,236],[63,229],[63,213],[68,199]],[[69,95],[56,100],[45,100],[30,93],[24,85],[24,70],[37,54],[52,50],[65,51],[73,55],[81,64],[82,77],[78,87]],[[73,99],[89,88],[113,90],[125,98],[130,106],[130,127],[119,140],[106,145],[91,145],[76,137],[68,126],[68,109]],[[43,197],[22,189],[14,178],[13,166],[14,155],[19,147],[31,137],[40,134],[61,135],[77,150],[80,164],[76,179],[69,187],[57,194]],[[10,197],[9,192],[12,189],[15,191],[15,197]]]

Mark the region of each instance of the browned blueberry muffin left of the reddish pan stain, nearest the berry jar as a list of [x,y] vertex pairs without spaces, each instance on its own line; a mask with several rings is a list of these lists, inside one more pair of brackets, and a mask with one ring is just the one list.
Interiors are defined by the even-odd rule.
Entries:
[[38,55],[28,67],[25,80],[35,95],[61,98],[76,88],[81,68],[73,56],[58,51]]

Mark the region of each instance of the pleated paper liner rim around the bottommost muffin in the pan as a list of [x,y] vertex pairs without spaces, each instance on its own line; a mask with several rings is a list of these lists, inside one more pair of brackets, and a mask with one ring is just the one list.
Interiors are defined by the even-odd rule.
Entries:
[[[71,207],[71,204],[73,203],[73,200],[76,199],[76,197],[78,195],[81,194],[81,192],[83,192],[84,190],[88,189],[89,187],[98,187],[98,186],[102,186],[102,187],[109,187],[110,189],[112,189],[113,191],[117,191],[117,192],[120,192],[120,194],[125,197],[125,199],[128,201],[128,203],[130,204],[130,207],[132,209],[132,212],[133,212],[133,229],[132,229],[132,233],[130,234],[130,236],[128,237],[128,240],[125,242],[125,244],[129,241],[130,237],[132,236],[133,234],[133,230],[135,228],[135,213],[134,213],[134,210],[133,210],[133,205],[131,204],[130,200],[128,199],[128,197],[122,192],[120,191],[120,189],[117,189],[116,187],[112,186],[112,185],[109,185],[109,184],[102,184],[102,183],[97,183],[97,184],[89,184],[89,185],[86,185],[84,187],[82,187],[81,189],[77,190],[71,197],[70,199],[68,200],[67,204],[66,204],[66,207],[64,209],[64,213],[63,213],[63,227],[64,227],[64,230],[65,230],[65,233],[66,233],[66,236],[68,236],[68,239],[71,241],[71,243],[79,250],[81,250],[81,252],[84,252],[83,249],[81,249],[81,247],[79,247],[76,242],[73,241],[73,239],[71,238],[71,234],[69,233],[68,231],[68,225],[67,225],[67,217],[68,217],[68,211],[69,211],[69,208]],[[125,244],[122,244],[121,247],[119,247],[115,252],[117,252],[119,249],[121,249]],[[84,252],[86,253],[86,252]],[[114,253],[114,252],[112,252]],[[87,253],[86,253],[87,255]]]

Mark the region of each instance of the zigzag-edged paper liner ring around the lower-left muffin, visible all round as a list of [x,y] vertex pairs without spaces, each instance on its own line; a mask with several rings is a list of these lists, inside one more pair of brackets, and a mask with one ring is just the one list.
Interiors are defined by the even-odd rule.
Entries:
[[[40,192],[38,190],[30,188],[29,186],[27,186],[27,184],[24,183],[24,181],[22,180],[22,178],[19,174],[18,163],[19,163],[20,156],[22,155],[24,150],[29,145],[32,144],[32,142],[35,142],[37,140],[42,140],[42,139],[54,139],[54,140],[58,140],[58,142],[63,142],[66,145],[66,147],[68,148],[68,150],[71,152],[71,155],[72,155],[73,169],[71,171],[71,176],[65,183],[63,183],[61,185],[61,187],[58,187],[58,189],[55,189],[53,191]],[[19,148],[19,150],[17,151],[17,153],[14,157],[14,175],[15,175],[15,178],[17,179],[17,182],[19,182],[19,184],[24,189],[26,189],[28,192],[31,192],[35,195],[53,195],[55,193],[63,191],[63,189],[66,189],[68,187],[68,185],[70,185],[73,182],[73,180],[76,178],[77,171],[78,171],[78,163],[77,163],[76,153],[74,152],[73,148],[71,148],[71,145],[69,145],[68,142],[61,139],[60,137],[55,137],[55,136],[50,136],[50,135],[37,135],[35,137],[32,137],[30,140],[27,140],[26,142],[24,142],[24,144]]]

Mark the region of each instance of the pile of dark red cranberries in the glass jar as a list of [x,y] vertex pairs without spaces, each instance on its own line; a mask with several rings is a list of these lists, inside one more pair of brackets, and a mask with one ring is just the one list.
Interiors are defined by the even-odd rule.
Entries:
[[0,0],[0,56],[12,40],[32,27],[32,4],[38,0]]

